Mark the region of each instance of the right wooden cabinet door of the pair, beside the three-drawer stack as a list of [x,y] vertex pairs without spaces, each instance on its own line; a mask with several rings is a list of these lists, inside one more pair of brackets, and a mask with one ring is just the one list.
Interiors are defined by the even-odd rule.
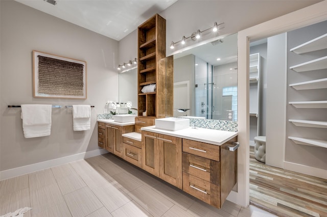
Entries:
[[157,134],[159,178],[182,189],[182,139]]

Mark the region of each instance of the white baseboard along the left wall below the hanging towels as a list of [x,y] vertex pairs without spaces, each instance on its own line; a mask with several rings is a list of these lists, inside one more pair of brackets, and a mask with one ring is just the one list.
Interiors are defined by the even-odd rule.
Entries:
[[43,162],[38,162],[36,164],[26,165],[22,167],[17,167],[9,170],[0,171],[0,180],[9,179],[15,176],[24,175],[27,173],[36,172],[39,170],[48,169],[51,167],[56,167],[62,164],[67,164],[68,162],[73,162],[75,160],[85,159],[89,157],[98,156],[100,154],[108,153],[105,149],[97,149],[92,151],[87,151],[83,153],[78,153],[74,155],[69,155],[65,157],[60,157],[52,160],[46,160]]

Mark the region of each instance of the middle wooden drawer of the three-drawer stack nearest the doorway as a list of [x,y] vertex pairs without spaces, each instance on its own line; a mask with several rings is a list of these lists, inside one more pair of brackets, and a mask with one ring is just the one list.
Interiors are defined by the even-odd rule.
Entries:
[[219,185],[220,162],[183,152],[183,172]]

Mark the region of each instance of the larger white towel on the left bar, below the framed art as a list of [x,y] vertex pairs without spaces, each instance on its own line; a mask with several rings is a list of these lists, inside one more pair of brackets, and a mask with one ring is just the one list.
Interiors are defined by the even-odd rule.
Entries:
[[22,104],[21,119],[25,138],[45,137],[51,133],[52,105]]

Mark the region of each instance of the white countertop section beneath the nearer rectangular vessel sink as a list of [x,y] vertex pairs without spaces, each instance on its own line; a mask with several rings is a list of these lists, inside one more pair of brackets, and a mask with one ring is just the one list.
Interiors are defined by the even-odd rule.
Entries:
[[222,145],[230,139],[238,135],[237,132],[230,132],[216,129],[205,129],[205,128],[186,128],[176,131],[169,131],[155,128],[155,126],[142,127],[141,130],[161,133],[165,135],[171,135],[173,137],[179,137],[182,139],[194,140],[203,143],[210,143],[213,145]]

